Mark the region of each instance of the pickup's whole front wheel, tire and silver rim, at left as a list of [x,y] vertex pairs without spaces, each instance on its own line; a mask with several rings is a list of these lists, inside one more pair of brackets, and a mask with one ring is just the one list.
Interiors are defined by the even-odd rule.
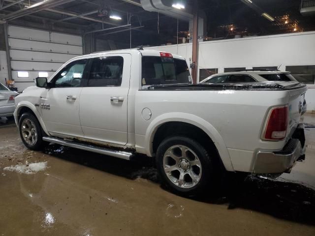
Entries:
[[24,113],[19,120],[19,132],[23,144],[32,150],[43,147],[41,127],[36,117],[30,113]]

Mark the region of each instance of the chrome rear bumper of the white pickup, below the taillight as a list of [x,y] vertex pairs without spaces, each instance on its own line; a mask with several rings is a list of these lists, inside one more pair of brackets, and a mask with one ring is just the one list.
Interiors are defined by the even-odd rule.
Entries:
[[300,123],[292,138],[280,151],[259,150],[256,154],[254,173],[284,173],[290,172],[295,162],[304,160],[305,135],[304,125]]

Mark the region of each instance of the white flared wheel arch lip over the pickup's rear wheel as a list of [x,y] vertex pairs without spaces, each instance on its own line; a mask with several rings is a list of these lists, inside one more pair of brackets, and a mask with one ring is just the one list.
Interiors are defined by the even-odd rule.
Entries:
[[[227,171],[234,171],[226,145],[220,133],[216,130],[216,128],[213,127],[213,125],[211,125],[206,120],[200,117],[197,117],[195,115],[187,114],[187,113],[163,114],[155,118],[150,123],[146,132],[146,137],[148,138],[146,139],[146,147],[145,147],[146,152],[150,156],[154,155],[156,148],[158,146],[157,138],[159,142],[162,141],[161,138],[159,138],[157,135],[159,135],[161,132],[163,133],[163,129],[165,129],[165,127],[169,128],[169,127],[174,127],[174,126],[175,127],[184,126],[183,128],[185,129],[189,128],[188,131],[194,130],[196,131],[196,134],[200,134],[202,138],[207,138],[208,141],[212,143],[214,147],[216,148],[219,154],[219,157],[221,159],[221,163],[224,165],[225,169]],[[173,133],[173,135],[175,135],[175,133]],[[172,136],[172,135],[169,135],[169,136]]]

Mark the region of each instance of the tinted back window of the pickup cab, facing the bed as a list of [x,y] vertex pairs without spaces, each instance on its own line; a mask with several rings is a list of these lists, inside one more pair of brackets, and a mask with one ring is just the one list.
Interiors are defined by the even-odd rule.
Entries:
[[190,83],[185,60],[164,57],[142,57],[142,85]]

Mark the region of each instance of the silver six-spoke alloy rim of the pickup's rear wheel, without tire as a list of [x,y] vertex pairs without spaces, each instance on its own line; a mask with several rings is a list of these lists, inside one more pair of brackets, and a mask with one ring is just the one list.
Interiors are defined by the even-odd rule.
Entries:
[[201,178],[201,162],[190,148],[175,145],[163,156],[163,170],[169,180],[180,188],[192,188]]

